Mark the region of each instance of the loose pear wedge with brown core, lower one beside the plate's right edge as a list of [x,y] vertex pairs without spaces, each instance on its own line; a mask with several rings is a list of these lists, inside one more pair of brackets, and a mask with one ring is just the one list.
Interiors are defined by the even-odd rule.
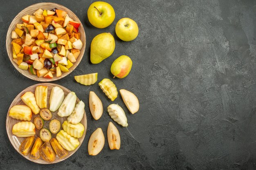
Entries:
[[88,153],[89,155],[98,155],[101,152],[105,144],[105,137],[101,128],[96,129],[89,139],[88,142]]

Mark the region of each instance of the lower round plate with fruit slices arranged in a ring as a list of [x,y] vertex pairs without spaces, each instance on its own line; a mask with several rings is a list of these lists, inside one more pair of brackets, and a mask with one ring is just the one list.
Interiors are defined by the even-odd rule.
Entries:
[[24,89],[6,118],[9,140],[20,155],[42,164],[57,163],[81,146],[87,129],[85,104],[69,89],[40,83]]

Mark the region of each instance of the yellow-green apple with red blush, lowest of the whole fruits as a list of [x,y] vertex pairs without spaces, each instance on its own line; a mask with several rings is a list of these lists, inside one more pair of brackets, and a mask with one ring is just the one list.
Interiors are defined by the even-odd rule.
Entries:
[[132,68],[132,60],[126,55],[121,55],[112,63],[110,71],[115,77],[125,78]]

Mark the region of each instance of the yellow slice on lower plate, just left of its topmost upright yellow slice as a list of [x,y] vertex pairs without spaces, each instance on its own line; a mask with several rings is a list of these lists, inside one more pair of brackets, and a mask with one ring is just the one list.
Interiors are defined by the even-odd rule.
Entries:
[[34,93],[32,92],[26,92],[21,97],[21,100],[33,111],[33,113],[38,114],[40,111],[40,108],[36,104],[36,98]]

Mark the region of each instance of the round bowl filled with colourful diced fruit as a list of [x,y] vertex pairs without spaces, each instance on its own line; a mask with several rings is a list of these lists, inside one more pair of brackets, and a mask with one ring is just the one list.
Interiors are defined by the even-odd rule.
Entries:
[[11,22],[6,48],[13,66],[35,81],[55,81],[70,74],[85,52],[85,31],[66,7],[33,4]]

